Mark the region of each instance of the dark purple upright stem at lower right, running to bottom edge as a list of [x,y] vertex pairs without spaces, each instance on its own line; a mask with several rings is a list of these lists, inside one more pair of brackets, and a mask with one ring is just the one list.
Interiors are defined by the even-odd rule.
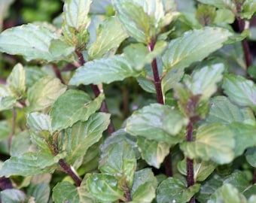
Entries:
[[[187,125],[187,141],[193,141],[193,123],[190,121]],[[193,159],[187,158],[187,187],[194,185],[194,166]],[[195,198],[192,197],[189,201],[195,203]]]

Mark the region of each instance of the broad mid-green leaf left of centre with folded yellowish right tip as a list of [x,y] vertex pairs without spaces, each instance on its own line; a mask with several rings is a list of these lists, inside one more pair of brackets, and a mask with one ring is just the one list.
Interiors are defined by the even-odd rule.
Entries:
[[104,99],[100,94],[91,101],[87,93],[81,90],[69,89],[54,102],[50,111],[53,131],[66,129],[78,120],[88,120],[97,111]]

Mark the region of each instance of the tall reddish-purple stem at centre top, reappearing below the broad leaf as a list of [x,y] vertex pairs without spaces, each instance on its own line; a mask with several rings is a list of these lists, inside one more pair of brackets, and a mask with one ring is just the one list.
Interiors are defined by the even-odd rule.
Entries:
[[[154,46],[156,44],[156,39],[152,40],[150,44],[148,44],[148,50],[152,52],[154,50]],[[151,67],[152,71],[154,74],[154,86],[157,92],[157,102],[161,105],[164,105],[163,101],[163,91],[162,91],[162,86],[161,86],[161,80],[159,76],[159,71],[157,68],[157,59],[153,59],[151,62]],[[169,155],[166,157],[164,161],[165,165],[165,173],[168,177],[172,177],[172,153],[171,151],[169,152]]]

